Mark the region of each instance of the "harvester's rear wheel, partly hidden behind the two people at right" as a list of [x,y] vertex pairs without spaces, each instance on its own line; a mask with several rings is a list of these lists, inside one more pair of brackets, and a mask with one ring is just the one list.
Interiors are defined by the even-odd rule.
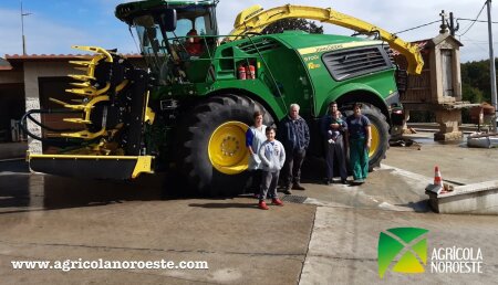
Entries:
[[[366,103],[362,104],[362,114],[372,124],[372,147],[369,154],[369,169],[372,171],[374,167],[381,166],[381,161],[385,158],[385,152],[390,147],[390,125],[384,114],[377,107]],[[353,110],[349,109],[345,113],[350,116],[353,114]]]

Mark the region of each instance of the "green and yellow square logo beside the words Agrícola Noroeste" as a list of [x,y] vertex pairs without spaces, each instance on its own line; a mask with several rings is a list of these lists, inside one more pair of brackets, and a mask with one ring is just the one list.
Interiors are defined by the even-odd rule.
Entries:
[[393,228],[378,236],[378,276],[384,277],[391,268],[401,273],[423,273],[427,264],[427,239],[425,229]]

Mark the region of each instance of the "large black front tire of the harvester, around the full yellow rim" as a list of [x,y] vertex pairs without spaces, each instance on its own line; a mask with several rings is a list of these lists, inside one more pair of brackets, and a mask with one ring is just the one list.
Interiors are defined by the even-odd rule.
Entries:
[[[243,192],[248,181],[247,171],[231,175],[219,171],[209,157],[208,146],[219,126],[227,122],[251,126],[257,110],[264,114],[264,125],[273,124],[273,118],[261,104],[232,94],[210,97],[186,115],[177,133],[176,160],[190,189],[209,196],[236,196]],[[247,151],[245,138],[240,140],[237,141],[237,151]]]

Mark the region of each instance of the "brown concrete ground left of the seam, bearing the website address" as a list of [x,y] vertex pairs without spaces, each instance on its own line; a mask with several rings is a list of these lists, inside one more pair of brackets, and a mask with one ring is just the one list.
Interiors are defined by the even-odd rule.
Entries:
[[[260,211],[251,198],[162,201],[155,183],[106,189],[105,182],[24,176],[12,184],[25,179],[31,192],[0,209],[0,268],[11,284],[295,284],[315,211],[291,203]],[[6,196],[6,177],[0,181]],[[207,261],[209,270],[10,268],[12,260],[68,258]]]

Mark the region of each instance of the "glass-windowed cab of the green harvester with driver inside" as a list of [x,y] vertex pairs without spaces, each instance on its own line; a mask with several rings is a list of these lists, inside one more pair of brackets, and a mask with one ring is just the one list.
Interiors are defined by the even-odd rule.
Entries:
[[158,85],[186,82],[190,61],[212,54],[218,27],[215,1],[120,4],[116,17],[136,31]]

